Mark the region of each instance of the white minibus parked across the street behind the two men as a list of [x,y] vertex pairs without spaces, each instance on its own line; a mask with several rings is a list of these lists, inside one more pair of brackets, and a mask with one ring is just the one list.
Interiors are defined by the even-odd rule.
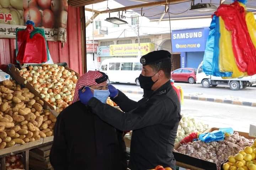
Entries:
[[108,75],[110,82],[133,83],[139,86],[142,64],[139,58],[110,58],[102,61],[100,71]]

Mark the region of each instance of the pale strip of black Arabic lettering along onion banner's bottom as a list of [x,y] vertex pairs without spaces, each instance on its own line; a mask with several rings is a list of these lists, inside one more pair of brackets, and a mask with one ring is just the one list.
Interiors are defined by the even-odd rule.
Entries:
[[[0,38],[16,38],[16,28],[26,28],[25,26],[15,26],[0,24]],[[66,29],[64,28],[44,28],[47,41],[66,42]]]

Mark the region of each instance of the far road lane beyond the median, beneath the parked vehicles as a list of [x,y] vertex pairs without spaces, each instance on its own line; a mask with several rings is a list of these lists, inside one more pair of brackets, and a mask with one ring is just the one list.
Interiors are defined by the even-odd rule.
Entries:
[[[113,85],[117,89],[123,90],[135,90],[135,91],[142,91],[139,86],[135,84],[121,84],[121,83],[113,83]],[[201,84],[188,84],[188,83],[175,83],[176,86],[181,86],[182,90],[185,95],[190,94],[205,94],[207,96],[232,96],[232,97],[240,97],[250,100],[256,101],[256,87],[247,87],[242,90],[233,91],[230,90],[228,86],[225,85],[218,85],[217,87],[210,87],[205,89],[202,87]]]

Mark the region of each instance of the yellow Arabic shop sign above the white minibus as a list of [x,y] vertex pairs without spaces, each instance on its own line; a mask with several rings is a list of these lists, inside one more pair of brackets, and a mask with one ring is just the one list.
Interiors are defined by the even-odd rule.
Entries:
[[140,47],[139,44],[117,44],[110,45],[110,56],[137,56],[139,51],[143,56],[154,50],[153,43],[140,43]]

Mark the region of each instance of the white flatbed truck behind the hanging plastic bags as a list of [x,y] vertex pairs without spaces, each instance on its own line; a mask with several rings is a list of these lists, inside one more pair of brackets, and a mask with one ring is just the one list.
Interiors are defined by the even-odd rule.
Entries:
[[199,64],[196,74],[196,83],[202,84],[204,88],[210,86],[216,87],[217,85],[229,85],[231,90],[244,89],[248,86],[256,85],[256,74],[253,76],[236,78],[236,79],[223,79],[221,77],[215,77],[213,75],[206,75],[203,72],[203,62]]

